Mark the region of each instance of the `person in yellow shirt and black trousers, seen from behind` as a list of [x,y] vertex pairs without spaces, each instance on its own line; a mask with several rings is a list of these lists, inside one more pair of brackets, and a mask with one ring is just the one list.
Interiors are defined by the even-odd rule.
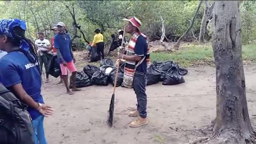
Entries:
[[102,56],[102,59],[104,59],[104,41],[103,41],[103,35],[100,33],[100,30],[97,28],[94,31],[95,35],[93,38],[92,45],[93,47],[97,47],[98,53],[99,53],[99,60],[100,55]]

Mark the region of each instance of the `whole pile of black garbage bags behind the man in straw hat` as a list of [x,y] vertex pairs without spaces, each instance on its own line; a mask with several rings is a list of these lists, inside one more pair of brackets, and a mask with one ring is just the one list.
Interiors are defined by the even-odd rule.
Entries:
[[[124,65],[125,63],[120,63],[116,86],[122,85]],[[117,68],[111,59],[103,59],[100,61],[100,67],[86,65],[83,71],[77,72],[75,84],[77,87],[107,86],[109,83],[114,86],[116,71]],[[185,82],[183,76],[187,73],[187,69],[179,67],[178,63],[173,61],[154,61],[147,68],[147,85],[157,84],[158,82],[162,82],[163,85],[181,84]]]

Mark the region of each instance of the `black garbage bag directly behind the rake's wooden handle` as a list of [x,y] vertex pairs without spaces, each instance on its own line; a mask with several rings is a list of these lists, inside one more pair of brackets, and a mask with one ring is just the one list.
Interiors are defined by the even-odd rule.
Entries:
[[[109,76],[108,76],[108,80],[110,83],[112,83],[112,85],[114,86],[115,84],[115,77],[116,77],[116,69],[114,68]],[[118,70],[118,74],[117,74],[117,80],[116,80],[116,86],[121,86],[123,83],[123,79],[124,79],[124,71],[121,70],[122,68],[119,68]]]

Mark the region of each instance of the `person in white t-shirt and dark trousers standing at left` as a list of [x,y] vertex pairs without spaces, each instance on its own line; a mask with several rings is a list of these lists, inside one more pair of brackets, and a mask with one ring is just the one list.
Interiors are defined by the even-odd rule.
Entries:
[[52,47],[50,42],[44,38],[44,33],[39,32],[38,33],[39,39],[36,39],[35,45],[36,50],[39,57],[39,64],[41,67],[41,74],[42,74],[42,68],[44,64],[45,72],[46,72],[46,83],[49,82],[49,73],[47,72],[47,67],[49,60],[52,58]]

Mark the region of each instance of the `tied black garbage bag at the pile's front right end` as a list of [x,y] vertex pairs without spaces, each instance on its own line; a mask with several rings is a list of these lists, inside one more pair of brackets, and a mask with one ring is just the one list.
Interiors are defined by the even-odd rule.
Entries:
[[178,64],[175,63],[164,76],[163,85],[175,85],[184,83],[185,79],[180,74]]

